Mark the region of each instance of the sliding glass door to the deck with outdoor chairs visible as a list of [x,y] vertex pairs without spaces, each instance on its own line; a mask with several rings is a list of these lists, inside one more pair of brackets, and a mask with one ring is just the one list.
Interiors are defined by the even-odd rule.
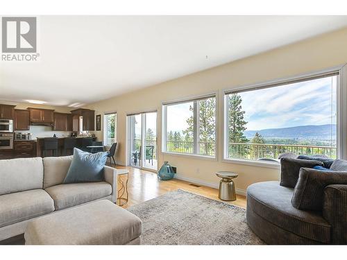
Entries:
[[128,115],[128,165],[157,170],[157,112]]

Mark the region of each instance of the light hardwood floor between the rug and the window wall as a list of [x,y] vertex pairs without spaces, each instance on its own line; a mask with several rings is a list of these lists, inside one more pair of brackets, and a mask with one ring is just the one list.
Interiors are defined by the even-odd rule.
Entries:
[[[176,189],[184,189],[185,191],[190,191],[214,200],[219,200],[218,189],[205,186],[195,187],[190,185],[192,184],[190,182],[177,179],[160,181],[158,180],[156,173],[144,171],[138,168],[119,165],[115,166],[114,168],[127,168],[129,170],[129,200],[127,205],[122,206],[124,208],[139,204],[146,200],[151,200],[152,198],[156,198],[164,193],[167,193],[168,191],[175,191]],[[237,200],[227,203],[237,205],[239,207],[246,207],[246,197],[237,195]]]

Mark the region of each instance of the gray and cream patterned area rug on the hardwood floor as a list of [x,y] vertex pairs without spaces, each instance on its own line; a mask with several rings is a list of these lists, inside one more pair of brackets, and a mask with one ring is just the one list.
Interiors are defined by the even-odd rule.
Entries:
[[178,189],[128,208],[143,221],[144,245],[259,245],[246,209]]

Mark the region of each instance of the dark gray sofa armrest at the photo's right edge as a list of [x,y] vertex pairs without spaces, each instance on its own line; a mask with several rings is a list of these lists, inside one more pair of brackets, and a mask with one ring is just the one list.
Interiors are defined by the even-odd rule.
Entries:
[[332,226],[332,243],[347,243],[347,185],[333,184],[324,189],[323,217]]

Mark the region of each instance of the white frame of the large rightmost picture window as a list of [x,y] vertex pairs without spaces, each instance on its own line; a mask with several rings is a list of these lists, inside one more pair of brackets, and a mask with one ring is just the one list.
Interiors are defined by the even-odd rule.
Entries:
[[269,80],[262,83],[255,83],[251,85],[241,85],[228,89],[223,89],[223,149],[222,149],[222,162],[232,164],[244,164],[250,166],[260,166],[267,168],[280,168],[278,162],[266,162],[257,161],[251,159],[236,159],[228,157],[228,94],[232,92],[246,92],[253,89],[264,89],[269,87],[276,87],[278,85],[287,85],[295,82],[312,80],[323,76],[328,76],[332,73],[338,73],[337,75],[337,158],[347,158],[347,66],[346,64],[339,65],[337,67],[330,67],[328,69],[322,69],[320,71],[312,71],[309,73],[298,74],[296,76],[290,76],[286,78],[278,78],[275,80]]

